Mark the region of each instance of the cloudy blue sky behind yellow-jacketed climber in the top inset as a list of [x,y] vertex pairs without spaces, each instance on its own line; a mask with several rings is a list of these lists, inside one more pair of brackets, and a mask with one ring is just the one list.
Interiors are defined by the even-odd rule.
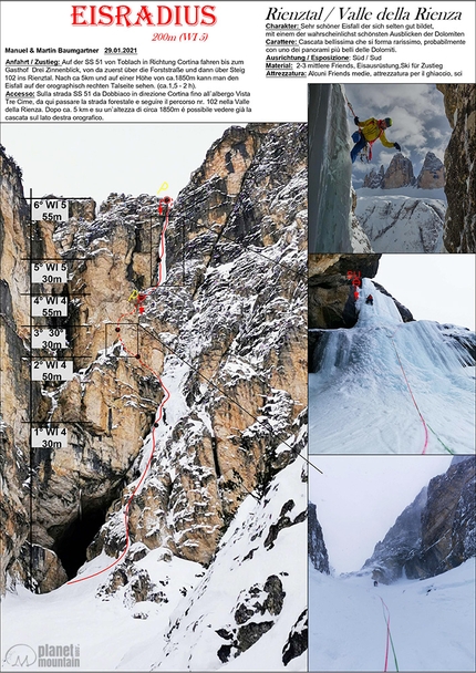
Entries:
[[[443,94],[435,84],[345,84],[345,95],[360,120],[392,117],[386,132],[389,141],[397,142],[404,156],[418,175],[428,151],[443,161],[452,128],[445,115]],[[356,130],[349,111],[349,131]],[[372,147],[370,164],[355,162],[352,168],[354,187],[359,187],[371,168],[386,168],[395,149],[380,142]]]

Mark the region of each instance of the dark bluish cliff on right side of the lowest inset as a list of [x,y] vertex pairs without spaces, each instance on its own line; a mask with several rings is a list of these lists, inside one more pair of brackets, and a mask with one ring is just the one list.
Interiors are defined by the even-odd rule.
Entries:
[[425,579],[476,553],[474,456],[455,456],[406,507],[362,568],[383,583]]

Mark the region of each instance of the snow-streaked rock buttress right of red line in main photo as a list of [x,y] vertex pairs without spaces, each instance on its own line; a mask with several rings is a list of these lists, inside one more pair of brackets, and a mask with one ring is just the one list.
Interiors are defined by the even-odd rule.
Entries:
[[[287,463],[283,456],[272,458],[279,438],[275,444],[273,432],[256,418],[266,416],[270,428],[278,424],[282,437],[304,407],[306,287],[300,276],[306,268],[304,135],[298,126],[287,127],[286,133],[252,127],[246,135],[232,130],[211,148],[177,199],[167,232],[172,286],[183,283],[178,250],[184,229],[189,237],[185,287],[173,293],[157,291],[151,318],[145,313],[153,334],[159,335],[163,356],[168,355],[187,414],[174,425],[166,418],[156,465],[134,499],[131,524],[136,540],[147,546],[166,543],[189,560],[209,562],[244,495],[266,484]],[[286,164],[289,174],[279,177],[271,164],[282,162],[292,145],[293,159]],[[236,173],[227,167],[229,156],[236,157],[236,173],[244,158],[248,166],[256,165],[247,173],[241,169],[240,190]],[[257,198],[261,190],[266,199]],[[293,224],[287,242],[281,229],[289,218]],[[281,267],[259,252],[263,246],[272,247],[271,259],[279,260],[288,244],[301,260],[298,267]],[[290,273],[288,288],[282,273]],[[269,301],[257,299],[257,292],[269,297],[271,286],[277,301],[288,298],[278,301],[278,313],[269,309]],[[298,320],[287,322],[294,311]],[[153,351],[154,343],[147,346],[146,341],[142,350],[147,353],[147,348]],[[184,367],[183,360],[199,375]],[[298,374],[286,382],[284,391],[282,375],[288,367]],[[102,547],[113,551],[122,547],[118,521],[120,515],[103,528],[94,553]]]

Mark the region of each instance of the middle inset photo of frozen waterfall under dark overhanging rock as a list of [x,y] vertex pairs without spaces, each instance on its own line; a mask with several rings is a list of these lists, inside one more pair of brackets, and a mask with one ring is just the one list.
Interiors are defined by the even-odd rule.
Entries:
[[473,454],[475,256],[309,258],[311,454]]

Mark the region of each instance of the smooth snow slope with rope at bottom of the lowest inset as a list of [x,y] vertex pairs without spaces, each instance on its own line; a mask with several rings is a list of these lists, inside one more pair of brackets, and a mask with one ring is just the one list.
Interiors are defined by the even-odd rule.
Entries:
[[[383,671],[386,622],[400,671],[474,671],[475,559],[427,580],[373,587],[310,567],[311,671]],[[389,671],[395,671],[390,648]]]

